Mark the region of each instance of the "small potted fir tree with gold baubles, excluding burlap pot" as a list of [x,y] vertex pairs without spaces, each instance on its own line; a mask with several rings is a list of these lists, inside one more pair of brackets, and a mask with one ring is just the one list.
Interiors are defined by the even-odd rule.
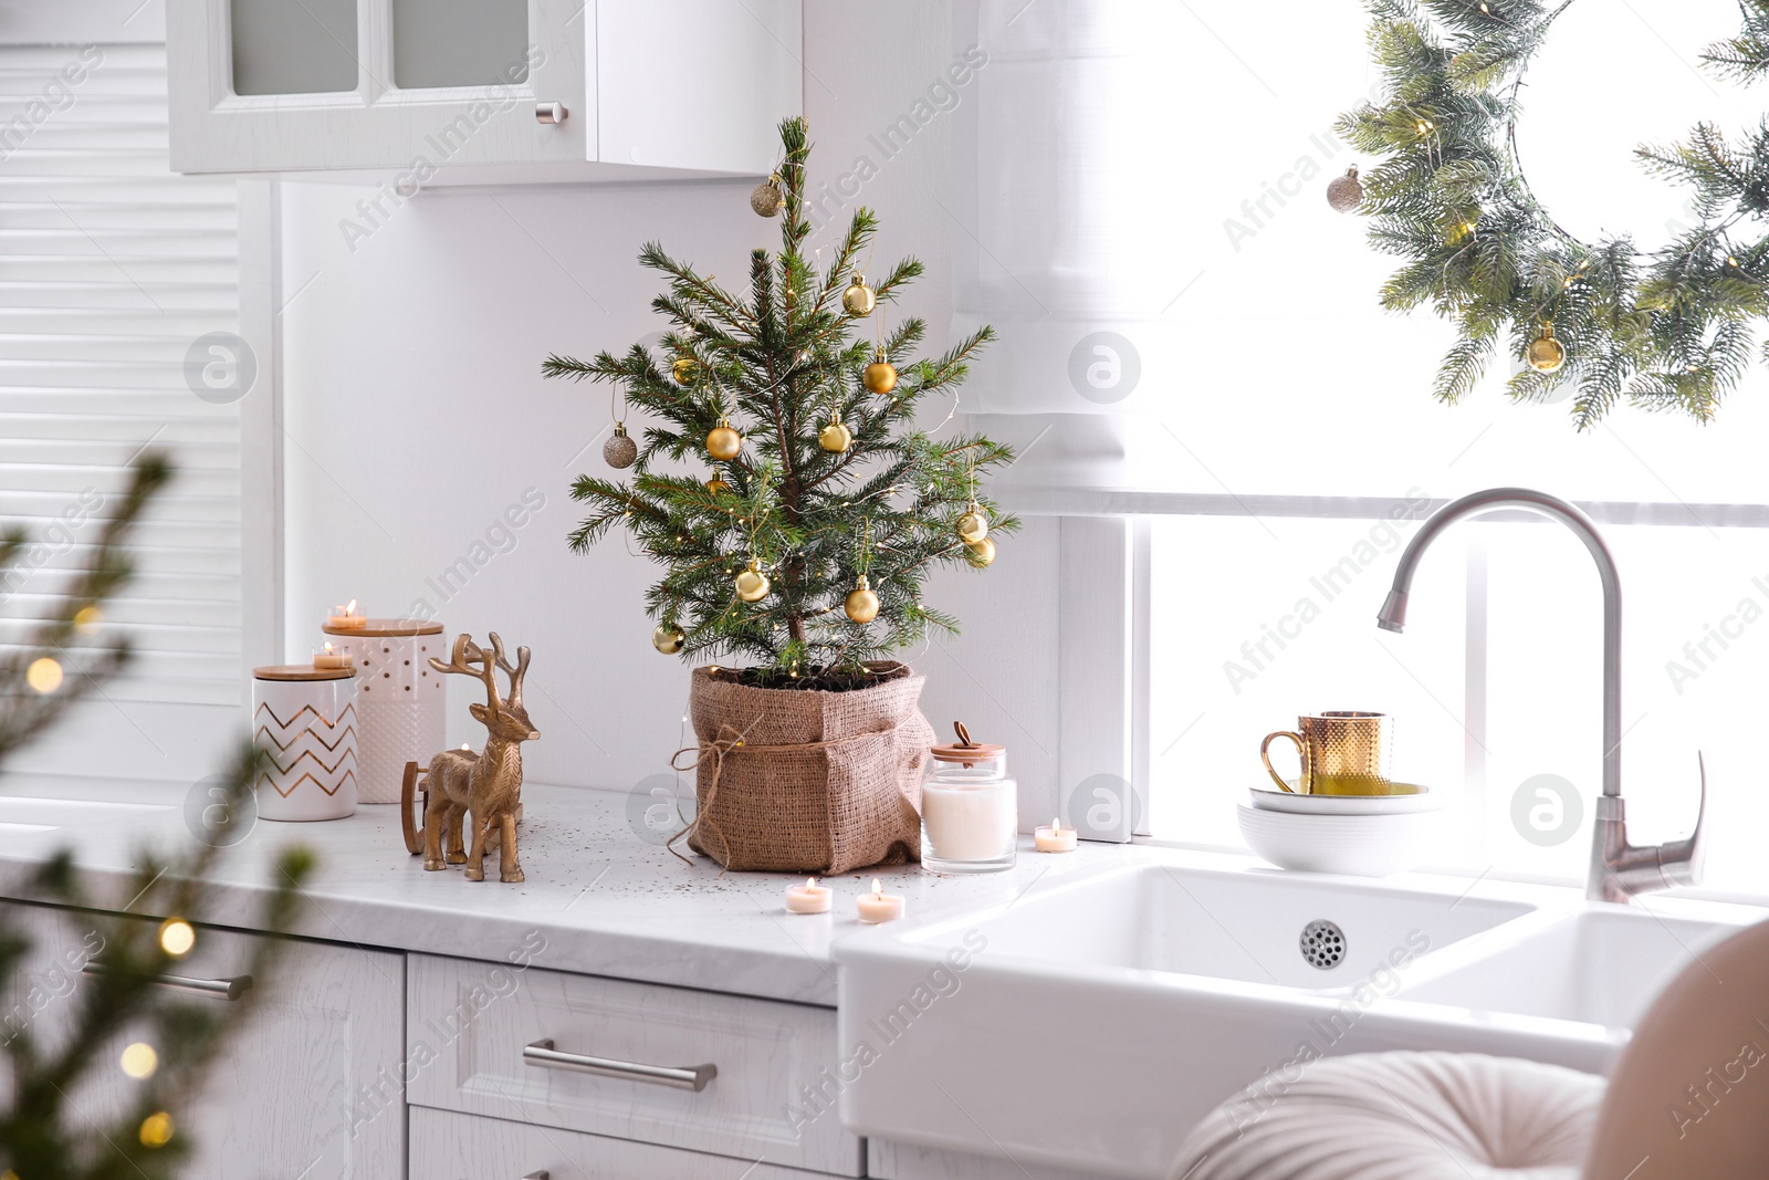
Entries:
[[[992,538],[1019,527],[976,492],[1012,451],[916,430],[922,402],[955,389],[994,333],[907,359],[925,326],[890,327],[886,310],[922,264],[869,285],[877,218],[862,207],[819,274],[805,257],[805,120],[782,122],[780,143],[778,172],[750,202],[782,218],[780,253],[750,253],[747,297],[649,242],[640,264],[669,276],[651,304],[670,322],[669,368],[633,345],[589,363],[550,356],[541,373],[609,382],[658,423],[644,446],[619,423],[605,449],[632,464],[632,483],[582,476],[571,488],[591,506],[575,550],[619,525],[665,568],[647,593],[656,647],[755,660],[741,676],[762,686],[849,686],[884,653],[957,632],[922,587],[939,563],[987,566]],[[699,462],[706,474],[681,471]]]

